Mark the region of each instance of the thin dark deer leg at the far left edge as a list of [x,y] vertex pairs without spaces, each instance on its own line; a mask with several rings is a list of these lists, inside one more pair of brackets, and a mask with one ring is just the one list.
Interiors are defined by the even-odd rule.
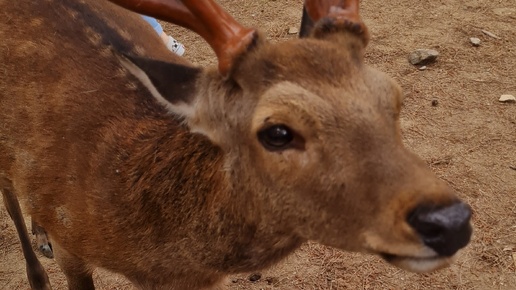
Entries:
[[[4,181],[3,183],[5,183],[5,180],[0,181]],[[10,184],[9,181],[7,182]],[[34,250],[32,249],[29,233],[27,232],[27,227],[25,226],[25,221],[21,213],[18,199],[10,188],[12,187],[2,187],[2,196],[4,198],[4,204],[7,212],[11,216],[11,219],[16,226],[16,231],[18,232],[23,256],[25,257],[27,277],[29,278],[30,286],[32,289],[52,289],[47,273],[45,272],[45,268],[43,268],[38,260],[38,257],[36,257],[36,253],[34,253]]]

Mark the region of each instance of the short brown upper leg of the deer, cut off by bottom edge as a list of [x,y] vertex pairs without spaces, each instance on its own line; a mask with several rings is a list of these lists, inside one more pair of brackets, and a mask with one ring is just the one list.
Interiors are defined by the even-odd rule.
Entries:
[[93,269],[81,258],[63,249],[56,241],[52,243],[54,257],[66,276],[70,290],[94,290]]

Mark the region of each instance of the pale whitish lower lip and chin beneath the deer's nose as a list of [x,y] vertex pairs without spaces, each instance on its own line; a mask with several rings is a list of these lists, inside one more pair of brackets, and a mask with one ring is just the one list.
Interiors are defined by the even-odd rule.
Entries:
[[430,257],[411,257],[411,256],[398,256],[388,253],[380,253],[380,256],[390,264],[393,264],[401,269],[416,272],[426,273],[435,271],[444,267],[449,266],[454,258],[448,256],[430,256]]

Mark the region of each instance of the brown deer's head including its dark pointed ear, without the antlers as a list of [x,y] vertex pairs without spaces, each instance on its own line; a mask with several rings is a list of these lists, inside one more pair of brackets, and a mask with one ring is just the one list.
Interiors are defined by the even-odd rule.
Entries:
[[[256,36],[225,76],[123,63],[224,150],[270,226],[411,271],[446,266],[469,241],[470,209],[402,145],[401,90],[364,65],[360,25],[322,22],[312,37],[281,44]],[[178,72],[190,83],[160,81]]]

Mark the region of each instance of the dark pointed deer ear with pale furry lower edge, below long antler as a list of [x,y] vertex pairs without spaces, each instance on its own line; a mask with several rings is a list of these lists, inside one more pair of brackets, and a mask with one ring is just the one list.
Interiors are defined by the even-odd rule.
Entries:
[[117,57],[158,102],[175,114],[191,117],[200,68],[137,56]]

